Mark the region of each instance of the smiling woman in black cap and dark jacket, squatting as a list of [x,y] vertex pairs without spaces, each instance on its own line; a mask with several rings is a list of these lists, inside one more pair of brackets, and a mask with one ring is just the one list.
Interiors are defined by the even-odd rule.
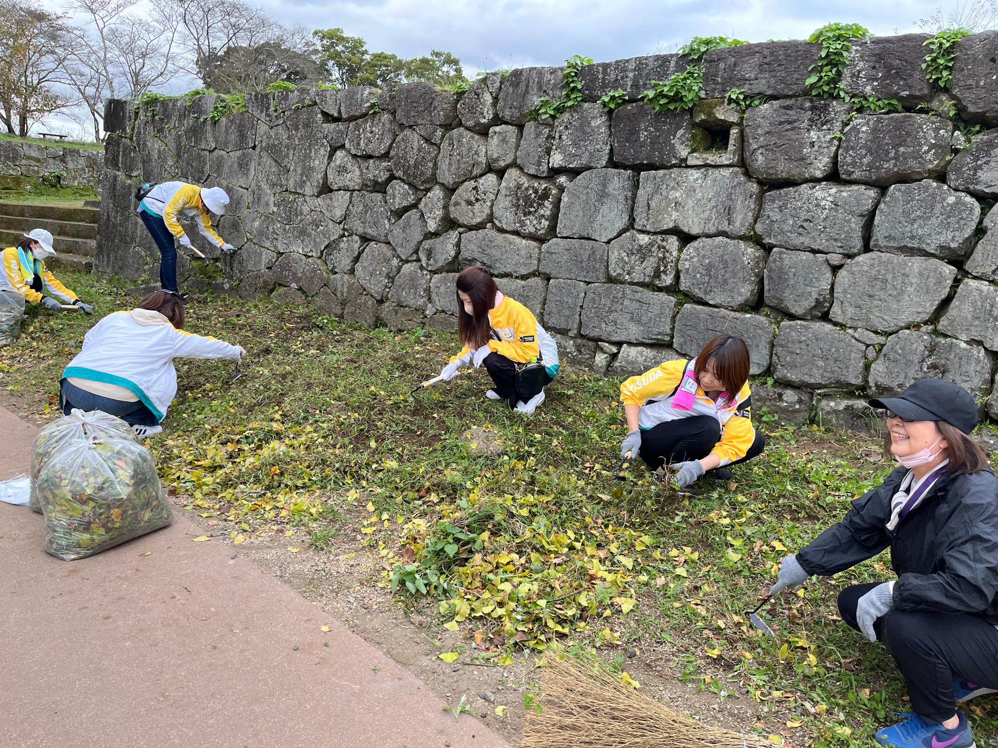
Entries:
[[890,548],[896,581],[852,584],[842,620],[884,642],[914,714],[875,735],[895,748],[971,748],[963,703],[998,689],[998,481],[967,436],[977,406],[962,387],[923,379],[887,411],[886,449],[901,464],[840,523],[779,566],[769,590],[829,576]]

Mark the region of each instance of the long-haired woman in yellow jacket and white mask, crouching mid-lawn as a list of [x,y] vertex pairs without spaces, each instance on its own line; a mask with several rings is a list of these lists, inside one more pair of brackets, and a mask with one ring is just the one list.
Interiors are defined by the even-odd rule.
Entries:
[[500,293],[481,267],[466,267],[457,276],[457,310],[457,335],[464,348],[440,376],[447,381],[461,368],[485,364],[495,383],[485,396],[533,413],[558,374],[554,339],[530,309]]

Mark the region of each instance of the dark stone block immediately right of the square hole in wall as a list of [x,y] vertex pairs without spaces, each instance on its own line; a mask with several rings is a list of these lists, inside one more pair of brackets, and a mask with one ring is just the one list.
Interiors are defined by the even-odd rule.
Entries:
[[778,99],[745,119],[749,174],[770,183],[825,180],[835,172],[838,137],[852,111],[832,99]]

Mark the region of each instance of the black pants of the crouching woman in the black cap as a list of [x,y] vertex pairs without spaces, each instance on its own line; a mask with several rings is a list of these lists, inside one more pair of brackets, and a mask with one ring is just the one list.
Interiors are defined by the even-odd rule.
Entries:
[[[859,598],[875,587],[852,584],[838,594],[842,620],[859,629]],[[891,610],[873,630],[886,644],[908,687],[911,708],[927,724],[955,714],[953,678],[998,688],[998,628],[969,613]]]

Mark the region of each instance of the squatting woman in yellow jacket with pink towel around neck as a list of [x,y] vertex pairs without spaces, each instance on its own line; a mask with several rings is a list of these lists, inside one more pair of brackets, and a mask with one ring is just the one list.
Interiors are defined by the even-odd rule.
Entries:
[[765,440],[749,420],[749,348],[719,335],[691,361],[666,361],[621,385],[628,435],[621,457],[640,455],[650,468],[671,465],[686,488],[705,473],[719,480],[724,466],[751,460]]

